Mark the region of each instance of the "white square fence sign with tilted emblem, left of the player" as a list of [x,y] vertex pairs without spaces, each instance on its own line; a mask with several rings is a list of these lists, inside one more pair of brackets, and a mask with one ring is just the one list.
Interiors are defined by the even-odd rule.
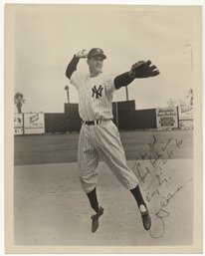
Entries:
[[45,132],[45,122],[43,113],[24,114],[24,133],[37,134]]

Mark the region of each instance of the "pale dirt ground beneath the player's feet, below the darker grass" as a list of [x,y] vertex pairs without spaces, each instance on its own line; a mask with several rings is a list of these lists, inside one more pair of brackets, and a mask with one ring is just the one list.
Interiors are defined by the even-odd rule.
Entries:
[[[141,161],[145,164],[146,161]],[[133,161],[128,162],[134,165]],[[174,165],[174,170],[173,170]],[[192,161],[171,160],[174,184],[160,186],[160,195],[147,205],[151,233],[142,227],[132,195],[121,186],[103,162],[99,166],[98,193],[104,214],[97,233],[91,232],[87,196],[81,189],[77,164],[41,164],[15,167],[15,244],[67,246],[156,246],[192,243]],[[180,167],[183,166],[185,171]],[[188,180],[188,181],[187,181]],[[156,205],[169,192],[183,188],[159,210]],[[145,184],[140,184],[146,198]]]

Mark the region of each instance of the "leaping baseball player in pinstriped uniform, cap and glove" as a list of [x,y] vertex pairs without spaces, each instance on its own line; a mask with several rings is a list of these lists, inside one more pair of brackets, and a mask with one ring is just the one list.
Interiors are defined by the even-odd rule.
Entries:
[[[80,59],[87,59],[89,73],[77,71]],[[100,156],[119,180],[134,196],[141,214],[143,227],[149,230],[151,218],[141,195],[138,179],[127,166],[118,129],[112,122],[112,96],[115,90],[128,86],[134,79],[154,77],[159,74],[150,61],[139,61],[128,72],[119,76],[103,75],[106,56],[100,48],[82,50],[74,55],[67,67],[66,76],[79,93],[79,113],[82,128],[79,137],[78,165],[82,187],[96,214],[92,215],[92,232],[99,227],[103,207],[97,196],[98,164]]]

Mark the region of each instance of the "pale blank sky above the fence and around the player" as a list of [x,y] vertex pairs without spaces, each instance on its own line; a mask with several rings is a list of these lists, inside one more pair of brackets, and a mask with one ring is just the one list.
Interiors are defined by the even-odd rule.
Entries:
[[[184,100],[193,88],[195,36],[192,8],[136,6],[30,6],[15,14],[15,93],[26,99],[23,112],[63,113],[78,92],[65,71],[82,49],[102,48],[103,73],[120,74],[139,60],[151,60],[160,71],[154,78],[134,80],[128,86],[135,109],[167,107],[169,98]],[[78,69],[89,72],[85,60]],[[125,101],[125,89],[113,101]],[[186,100],[187,101],[187,100]]]

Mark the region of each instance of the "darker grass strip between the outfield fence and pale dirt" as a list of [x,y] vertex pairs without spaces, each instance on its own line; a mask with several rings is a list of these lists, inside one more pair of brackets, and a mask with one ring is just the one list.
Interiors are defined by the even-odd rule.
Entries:
[[[157,140],[155,146],[166,143],[168,139],[182,139],[182,150],[177,151],[173,158],[192,158],[193,131],[122,131],[121,142],[124,146],[126,158],[132,160],[138,153],[150,151],[149,143]],[[154,137],[155,138],[154,138]],[[52,135],[20,135],[15,136],[14,164],[60,163],[77,161],[79,133]]]

